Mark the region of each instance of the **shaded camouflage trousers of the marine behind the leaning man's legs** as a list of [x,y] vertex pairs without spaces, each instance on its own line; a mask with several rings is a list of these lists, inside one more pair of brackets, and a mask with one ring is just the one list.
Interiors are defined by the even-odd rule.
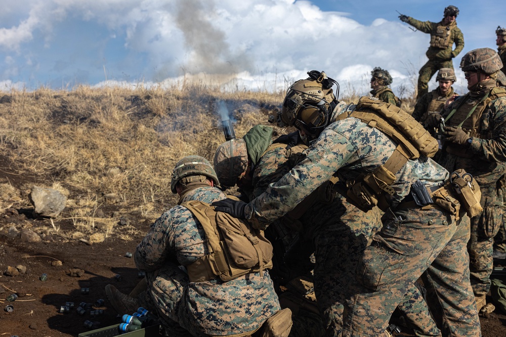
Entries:
[[[343,303],[354,294],[352,284],[356,282],[355,271],[359,259],[371,233],[381,227],[377,208],[364,213],[348,203],[344,204],[347,210],[340,217],[340,226],[331,229],[322,227],[315,235],[314,286],[326,327],[325,336],[340,336],[343,329]],[[402,301],[404,303],[400,309],[417,336],[440,335],[424,298],[414,285]]]

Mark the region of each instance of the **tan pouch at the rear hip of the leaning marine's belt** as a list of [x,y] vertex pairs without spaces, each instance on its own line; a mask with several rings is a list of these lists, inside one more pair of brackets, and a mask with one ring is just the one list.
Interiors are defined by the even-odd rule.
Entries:
[[450,183],[458,201],[466,209],[470,218],[483,212],[483,207],[480,205],[480,186],[471,174],[463,169],[453,171],[450,174]]

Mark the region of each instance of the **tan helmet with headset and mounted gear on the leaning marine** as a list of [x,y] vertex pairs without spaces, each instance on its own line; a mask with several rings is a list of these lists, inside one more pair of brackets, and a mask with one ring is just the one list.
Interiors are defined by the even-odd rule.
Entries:
[[308,74],[309,78],[298,80],[286,91],[277,123],[280,127],[294,125],[307,136],[318,136],[328,124],[336,100],[332,86],[337,82],[323,71]]

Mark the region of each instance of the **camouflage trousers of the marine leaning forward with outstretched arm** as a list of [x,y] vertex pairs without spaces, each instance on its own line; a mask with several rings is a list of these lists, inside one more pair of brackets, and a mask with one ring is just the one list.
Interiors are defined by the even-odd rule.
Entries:
[[[378,336],[395,307],[424,274],[429,305],[441,311],[443,335],[480,336],[480,321],[469,281],[469,227],[445,212],[406,210],[382,218],[357,268],[355,289],[345,301],[343,336]],[[451,331],[451,332],[450,332]]]

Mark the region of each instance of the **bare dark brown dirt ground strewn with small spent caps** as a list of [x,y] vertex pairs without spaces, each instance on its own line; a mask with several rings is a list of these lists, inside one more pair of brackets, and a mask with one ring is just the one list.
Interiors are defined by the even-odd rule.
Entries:
[[[0,275],[2,309],[8,304],[14,307],[12,312],[3,310],[0,313],[0,336],[77,336],[89,330],[84,326],[86,320],[98,321],[100,327],[119,323],[120,318],[109,305],[104,287],[112,283],[120,291],[128,293],[139,281],[134,261],[125,257],[125,253],[135,251],[142,234],[135,235],[131,242],[111,238],[91,246],[77,240],[68,241],[54,234],[46,236],[40,243],[9,238],[5,229],[7,224],[30,221],[34,227],[39,227],[44,223],[43,220],[30,219],[29,213],[29,210],[20,210],[19,215],[0,219],[0,227],[3,227],[0,232],[2,271],[7,266],[26,266],[24,274]],[[65,221],[60,225],[65,226]],[[146,232],[149,225],[142,223],[136,226],[141,232]],[[61,261],[62,265],[54,261]],[[80,277],[72,277],[69,272],[71,268],[85,272]],[[43,273],[48,275],[46,281],[39,279]],[[122,279],[115,280],[115,275],[121,275]],[[506,281],[506,277],[501,278]],[[89,294],[81,294],[81,288],[89,288]],[[17,293],[19,298],[8,303],[4,299],[12,293]],[[99,299],[105,300],[104,305],[95,307],[104,310],[102,315],[91,317],[90,311],[87,311],[81,316],[76,312],[79,303],[94,304]],[[66,302],[73,302],[74,309],[69,313],[59,313],[60,307]],[[506,335],[506,315],[499,309],[489,318],[482,317],[481,323],[484,337]],[[411,334],[404,329],[402,335]]]

